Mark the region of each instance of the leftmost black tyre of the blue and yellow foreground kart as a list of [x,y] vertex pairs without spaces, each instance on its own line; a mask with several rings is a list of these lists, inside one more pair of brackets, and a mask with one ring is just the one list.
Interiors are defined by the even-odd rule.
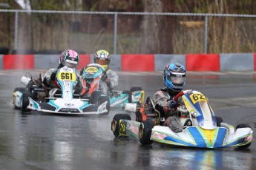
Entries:
[[111,122],[111,130],[115,137],[119,137],[119,120],[125,119],[125,120],[131,120],[131,116],[128,114],[119,113],[114,115],[114,118]]

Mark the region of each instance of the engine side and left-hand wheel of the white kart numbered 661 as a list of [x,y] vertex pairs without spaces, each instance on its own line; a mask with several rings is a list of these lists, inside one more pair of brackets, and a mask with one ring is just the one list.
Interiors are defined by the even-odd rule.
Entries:
[[[29,73],[27,73],[30,75]],[[16,109],[21,109],[22,112],[27,110],[29,99],[33,98],[34,101],[45,102],[50,88],[43,84],[43,75],[40,72],[38,79],[33,79],[27,76],[22,76],[21,82],[25,87],[16,87],[13,91],[13,106]]]

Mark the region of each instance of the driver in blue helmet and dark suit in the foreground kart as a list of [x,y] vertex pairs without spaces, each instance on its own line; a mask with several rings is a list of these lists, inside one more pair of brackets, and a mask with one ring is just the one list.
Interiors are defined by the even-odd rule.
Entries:
[[181,101],[174,101],[174,97],[186,84],[186,68],[180,63],[167,64],[163,70],[163,83],[165,87],[152,98],[156,109],[160,111],[160,124],[169,126],[174,132],[181,132],[183,126],[174,117],[178,112],[177,104]]

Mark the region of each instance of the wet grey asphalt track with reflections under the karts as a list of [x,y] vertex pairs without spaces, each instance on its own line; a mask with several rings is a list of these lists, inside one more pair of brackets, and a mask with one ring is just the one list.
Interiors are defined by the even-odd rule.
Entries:
[[[22,114],[12,93],[25,72],[0,71],[0,169],[255,169],[256,143],[249,149],[194,149],[115,138],[108,115]],[[142,86],[151,96],[163,86],[161,72],[117,72],[118,89]],[[236,126],[256,126],[256,72],[188,72],[186,89],[208,98],[216,115]],[[131,115],[134,118],[134,115]],[[255,139],[255,137],[254,137]]]

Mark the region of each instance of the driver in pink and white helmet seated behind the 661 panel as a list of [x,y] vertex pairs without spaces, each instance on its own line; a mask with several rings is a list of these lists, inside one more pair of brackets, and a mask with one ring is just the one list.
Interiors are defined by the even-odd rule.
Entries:
[[[59,57],[59,66],[57,69],[49,69],[45,73],[45,77],[43,83],[45,86],[50,88],[49,95],[53,97],[56,91],[59,89],[59,84],[56,82],[56,72],[58,69],[67,66],[73,69],[76,69],[77,65],[79,64],[79,55],[74,50],[65,50]],[[76,74],[77,75],[77,74]],[[82,91],[82,83],[80,81],[79,75],[76,76],[76,85],[75,85],[75,92],[80,93]]]

